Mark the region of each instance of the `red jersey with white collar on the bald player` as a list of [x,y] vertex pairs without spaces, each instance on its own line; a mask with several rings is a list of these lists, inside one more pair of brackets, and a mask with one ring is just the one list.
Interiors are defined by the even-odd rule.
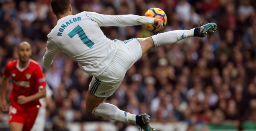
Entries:
[[7,63],[3,71],[3,76],[12,77],[13,89],[10,94],[10,104],[18,111],[40,106],[38,100],[26,104],[18,104],[18,96],[31,96],[36,94],[40,88],[46,86],[45,76],[42,67],[35,60],[29,59],[28,65],[19,68],[19,60],[13,60]]

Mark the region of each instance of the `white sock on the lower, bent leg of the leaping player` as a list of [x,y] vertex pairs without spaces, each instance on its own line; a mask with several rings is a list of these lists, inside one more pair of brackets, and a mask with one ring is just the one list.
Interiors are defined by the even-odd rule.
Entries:
[[109,103],[99,104],[99,106],[93,109],[92,114],[102,116],[104,118],[109,118],[114,121],[136,124],[135,114],[130,114],[125,111],[122,111],[118,109],[118,107],[116,107],[115,105]]

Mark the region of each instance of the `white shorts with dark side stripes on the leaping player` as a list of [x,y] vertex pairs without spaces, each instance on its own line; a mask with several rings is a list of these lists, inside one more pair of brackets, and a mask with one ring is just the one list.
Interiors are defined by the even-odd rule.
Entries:
[[126,71],[142,56],[138,39],[114,40],[118,49],[107,69],[93,77],[89,85],[90,92],[97,97],[111,96],[125,77]]

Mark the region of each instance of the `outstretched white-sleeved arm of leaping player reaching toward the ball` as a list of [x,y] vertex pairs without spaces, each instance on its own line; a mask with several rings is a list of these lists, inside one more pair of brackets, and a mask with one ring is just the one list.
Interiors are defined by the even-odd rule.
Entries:
[[158,19],[139,15],[102,15],[95,12],[85,12],[99,26],[131,26],[142,24],[155,24]]

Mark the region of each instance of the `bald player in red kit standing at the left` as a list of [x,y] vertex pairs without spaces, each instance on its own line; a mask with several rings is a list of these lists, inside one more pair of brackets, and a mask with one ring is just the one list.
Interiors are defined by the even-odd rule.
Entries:
[[[30,59],[32,54],[28,42],[18,46],[18,60],[7,63],[2,79],[2,111],[7,111],[6,94],[8,79],[12,78],[10,94],[10,131],[30,131],[40,108],[38,99],[46,95],[46,82],[42,67]],[[41,91],[40,91],[41,90]]]

